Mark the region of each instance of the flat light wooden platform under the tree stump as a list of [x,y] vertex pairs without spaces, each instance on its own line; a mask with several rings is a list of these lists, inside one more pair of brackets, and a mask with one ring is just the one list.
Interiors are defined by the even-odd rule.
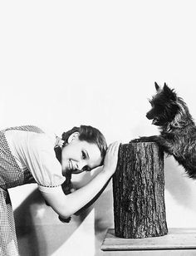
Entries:
[[101,250],[174,250],[196,249],[196,229],[169,229],[162,237],[145,239],[121,239],[115,237],[115,229],[108,229]]

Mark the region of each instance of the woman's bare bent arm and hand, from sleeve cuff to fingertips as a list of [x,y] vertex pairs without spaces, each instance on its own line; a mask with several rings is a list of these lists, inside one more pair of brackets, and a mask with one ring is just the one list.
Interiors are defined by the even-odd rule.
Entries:
[[66,195],[61,190],[61,187],[56,193],[42,192],[48,204],[51,205],[52,209],[54,209],[61,218],[68,218],[72,214],[75,214],[79,209],[90,202],[91,199],[100,192],[107,181],[110,180],[110,177],[115,173],[119,145],[119,142],[115,142],[108,147],[103,170],[81,189]]

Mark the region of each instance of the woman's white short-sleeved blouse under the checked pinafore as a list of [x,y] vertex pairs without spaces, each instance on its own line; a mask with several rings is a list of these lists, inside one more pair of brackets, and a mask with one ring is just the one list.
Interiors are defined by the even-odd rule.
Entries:
[[56,159],[56,135],[26,130],[6,130],[7,144],[22,170],[29,170],[43,192],[59,191],[66,180]]

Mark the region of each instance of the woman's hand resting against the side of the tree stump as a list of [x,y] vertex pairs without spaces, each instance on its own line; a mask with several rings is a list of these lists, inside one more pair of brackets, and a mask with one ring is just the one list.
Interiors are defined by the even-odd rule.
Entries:
[[110,176],[115,173],[116,165],[118,162],[119,146],[119,141],[111,143],[105,155],[103,171],[105,171],[105,173],[107,173]]

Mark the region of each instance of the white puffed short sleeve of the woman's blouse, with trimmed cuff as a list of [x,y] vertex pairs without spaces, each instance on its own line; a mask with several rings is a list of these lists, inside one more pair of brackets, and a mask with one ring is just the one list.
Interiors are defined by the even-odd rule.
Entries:
[[56,160],[54,145],[46,134],[32,135],[27,141],[27,149],[27,168],[39,189],[55,188],[66,180]]

